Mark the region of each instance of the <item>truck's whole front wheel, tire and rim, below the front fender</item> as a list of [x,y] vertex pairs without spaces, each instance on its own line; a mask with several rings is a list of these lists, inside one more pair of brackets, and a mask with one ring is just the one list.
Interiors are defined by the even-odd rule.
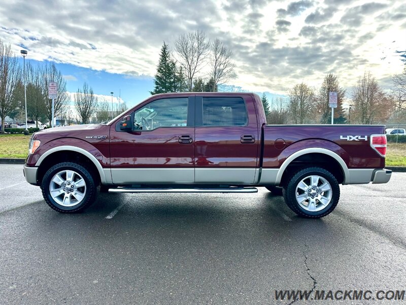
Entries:
[[80,164],[64,162],[52,166],[42,179],[42,195],[46,203],[61,213],[83,210],[96,199],[95,182]]

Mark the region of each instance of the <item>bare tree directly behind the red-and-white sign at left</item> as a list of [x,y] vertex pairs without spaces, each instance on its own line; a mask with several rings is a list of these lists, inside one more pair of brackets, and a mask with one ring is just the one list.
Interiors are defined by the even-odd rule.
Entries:
[[59,70],[56,69],[55,64],[45,64],[41,70],[41,86],[45,96],[46,116],[48,120],[52,121],[52,100],[48,99],[48,84],[50,82],[57,83],[57,96],[54,102],[54,115],[60,116],[69,100],[69,96],[66,93],[66,81],[62,77]]

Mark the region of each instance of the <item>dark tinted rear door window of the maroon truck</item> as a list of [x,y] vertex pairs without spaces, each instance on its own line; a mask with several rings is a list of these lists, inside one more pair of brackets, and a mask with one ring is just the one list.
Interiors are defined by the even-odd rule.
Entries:
[[203,98],[203,126],[245,126],[247,110],[242,98]]

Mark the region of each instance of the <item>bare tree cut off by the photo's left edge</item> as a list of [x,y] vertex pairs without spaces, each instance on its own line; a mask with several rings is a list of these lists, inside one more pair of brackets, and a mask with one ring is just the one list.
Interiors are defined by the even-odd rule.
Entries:
[[17,57],[12,53],[11,46],[5,45],[0,39],[0,116],[2,118],[2,132],[6,116],[15,110],[14,93],[21,80],[21,68]]

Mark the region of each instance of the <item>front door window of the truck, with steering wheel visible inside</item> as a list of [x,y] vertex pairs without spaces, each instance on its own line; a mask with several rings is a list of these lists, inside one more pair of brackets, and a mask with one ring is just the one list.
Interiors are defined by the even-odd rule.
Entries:
[[187,126],[188,98],[153,101],[134,113],[134,130]]

